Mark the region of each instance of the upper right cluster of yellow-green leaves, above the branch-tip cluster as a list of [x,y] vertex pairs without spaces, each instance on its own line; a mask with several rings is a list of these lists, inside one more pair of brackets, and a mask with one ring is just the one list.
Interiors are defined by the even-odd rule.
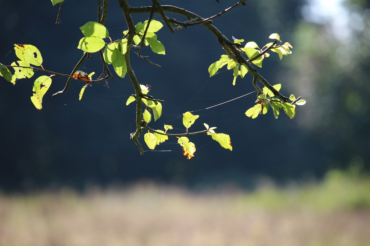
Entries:
[[[270,51],[276,52],[277,54],[279,54],[280,60],[282,59],[283,55],[292,54],[292,51],[290,51],[290,48],[293,48],[292,45],[289,44],[289,42],[285,42],[284,44],[281,44],[279,34],[273,33],[269,36],[269,38],[270,39],[275,39],[275,40],[280,42],[279,45],[274,44],[271,48],[269,48]],[[233,37],[233,39],[234,39],[234,43],[238,44],[238,45],[241,45],[241,42],[244,42],[243,39],[236,39],[234,37]],[[244,45],[243,48],[239,48],[238,50],[240,52],[242,52],[242,54],[245,54],[245,55],[248,56],[248,58],[249,58],[248,61],[251,61],[253,64],[262,68],[263,59],[265,57],[270,56],[269,53],[266,52],[266,49],[268,47],[270,47],[270,45],[272,45],[272,44],[273,44],[273,42],[270,42],[270,43],[266,44],[265,46],[263,46],[260,49],[260,48],[258,48],[258,45],[256,44],[256,42],[250,41],[250,42],[247,42]],[[263,52],[263,54],[260,55],[262,52]],[[257,57],[257,56],[259,56],[259,57]],[[244,76],[248,72],[248,66],[246,64],[244,64],[244,63],[239,64],[234,59],[230,58],[228,55],[221,55],[221,58],[218,61],[212,63],[209,66],[209,68],[208,68],[209,76],[212,77],[213,75],[215,75],[216,72],[218,71],[218,69],[222,68],[225,65],[227,65],[227,69],[229,69],[229,70],[233,69],[233,75],[234,75],[234,79],[233,79],[233,83],[232,83],[233,85],[235,85],[236,78],[239,75],[240,75],[241,78],[244,78]]]

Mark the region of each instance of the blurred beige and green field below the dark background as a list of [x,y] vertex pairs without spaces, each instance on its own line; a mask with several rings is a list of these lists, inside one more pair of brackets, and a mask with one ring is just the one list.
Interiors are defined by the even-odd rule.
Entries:
[[331,171],[320,184],[192,193],[139,184],[0,195],[1,246],[368,246],[370,179]]

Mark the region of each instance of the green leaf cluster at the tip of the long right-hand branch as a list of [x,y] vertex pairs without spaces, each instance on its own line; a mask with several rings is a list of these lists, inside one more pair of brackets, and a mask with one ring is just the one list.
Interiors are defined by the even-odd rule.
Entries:
[[[280,90],[281,84],[273,85],[273,88],[275,88],[277,91]],[[272,108],[275,119],[279,117],[279,111],[280,109],[283,109],[284,112],[289,116],[290,119],[293,119],[296,115],[295,107],[296,105],[304,105],[306,103],[306,100],[303,99],[296,99],[296,97],[292,94],[289,97],[289,100],[292,101],[292,103],[289,102],[282,102],[279,98],[277,98],[274,93],[269,90],[266,86],[262,89],[263,94],[259,95],[256,100],[256,105],[251,107],[245,112],[245,115],[248,117],[252,117],[252,119],[255,119],[258,115],[263,114],[265,115],[269,107]]]

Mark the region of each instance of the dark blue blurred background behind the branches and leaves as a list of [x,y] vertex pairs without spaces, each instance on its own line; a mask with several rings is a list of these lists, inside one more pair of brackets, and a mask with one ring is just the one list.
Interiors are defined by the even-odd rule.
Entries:
[[[66,0],[61,23],[55,25],[59,4],[50,1],[0,0],[0,62],[17,61],[13,44],[35,45],[47,70],[70,74],[83,52],[77,49],[83,37],[79,27],[97,21],[97,1]],[[236,3],[235,0],[161,0],[202,17],[209,17]],[[232,85],[232,71],[226,68],[209,78],[208,66],[224,51],[206,28],[196,26],[171,34],[166,27],[158,40],[166,55],[147,47],[142,55],[162,66],[157,68],[131,53],[132,68],[150,94],[163,99],[162,117],[149,126],[183,132],[182,113],[200,110],[192,131],[203,123],[230,134],[233,151],[225,150],[209,136],[192,136],[195,157],[186,160],[177,139],[149,150],[143,137],[141,156],[129,140],[135,131],[135,106],[126,106],[134,93],[126,76],[94,83],[78,94],[84,82],[72,81],[67,93],[51,95],[64,88],[66,79],[54,76],[51,88],[37,110],[30,101],[37,76],[21,79],[13,86],[1,79],[0,190],[33,191],[63,186],[83,190],[90,185],[125,185],[154,180],[192,189],[219,185],[253,188],[261,177],[286,184],[321,178],[330,168],[359,167],[369,170],[369,73],[370,1],[269,0],[247,1],[216,18],[213,24],[229,40],[232,36],[262,47],[271,33],[293,45],[293,54],[279,60],[272,53],[260,73],[271,84],[282,83],[283,94],[302,95],[306,105],[297,107],[290,120],[270,111],[250,119],[244,112],[252,107],[256,94],[224,105],[206,107],[254,90],[252,76],[240,77]],[[150,5],[149,0],[129,1],[131,6]],[[185,20],[168,14],[177,20]],[[144,21],[148,14],[133,16]],[[161,18],[155,14],[156,20]],[[122,37],[127,25],[117,1],[111,0],[105,26],[112,40]],[[101,74],[99,55],[84,61],[81,70]],[[112,73],[114,73],[110,66]]]

